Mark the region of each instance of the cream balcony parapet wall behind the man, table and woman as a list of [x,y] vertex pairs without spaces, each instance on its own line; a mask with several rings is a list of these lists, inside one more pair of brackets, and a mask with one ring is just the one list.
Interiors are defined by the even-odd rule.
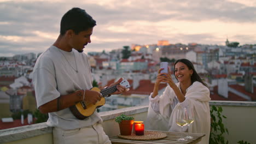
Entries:
[[[225,135],[225,138],[229,143],[237,143],[240,140],[251,144],[256,142],[256,102],[210,101],[210,105],[222,106],[223,115],[227,117],[223,119],[223,123],[229,130],[229,135]],[[147,111],[148,105],[142,105],[100,112],[104,131],[108,136],[118,135],[119,125],[114,121],[116,116],[124,113],[133,116],[137,121],[146,121]],[[0,143],[53,143],[52,130],[45,123],[0,130]]]

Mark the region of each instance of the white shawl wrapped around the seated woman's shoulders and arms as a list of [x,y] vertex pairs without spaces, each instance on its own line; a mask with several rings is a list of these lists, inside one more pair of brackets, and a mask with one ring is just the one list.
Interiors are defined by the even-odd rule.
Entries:
[[[179,83],[176,83],[179,87]],[[159,97],[159,113],[152,109],[151,103],[149,103],[147,128],[155,130],[168,130],[168,131],[181,131],[181,127],[176,124],[176,110],[180,109],[182,105],[178,103],[172,110],[170,105],[173,103],[173,99],[176,96],[173,89],[167,86],[164,93]],[[183,127],[183,131],[189,131],[189,133],[202,133],[206,136],[202,137],[200,143],[209,143],[211,116],[209,101],[210,91],[202,85],[201,82],[194,82],[193,85],[188,88],[185,94],[186,103],[194,109],[195,121],[189,126]],[[155,127],[156,126],[156,127]]]

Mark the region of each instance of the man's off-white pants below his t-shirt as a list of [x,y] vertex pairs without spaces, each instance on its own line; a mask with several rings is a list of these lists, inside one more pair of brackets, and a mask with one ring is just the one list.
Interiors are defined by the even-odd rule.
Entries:
[[53,129],[54,144],[109,144],[111,143],[108,136],[103,131],[102,124],[95,123],[90,127],[78,128],[72,130],[63,130],[54,127]]

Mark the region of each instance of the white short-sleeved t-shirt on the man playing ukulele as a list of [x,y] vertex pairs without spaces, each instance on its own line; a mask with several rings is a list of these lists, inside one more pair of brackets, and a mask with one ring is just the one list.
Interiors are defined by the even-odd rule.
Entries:
[[[78,70],[78,73],[75,71]],[[36,92],[37,107],[54,100],[60,95],[73,93],[79,89],[92,88],[90,63],[85,53],[72,49],[66,52],[50,46],[42,53],[33,69],[33,85]],[[102,122],[95,111],[90,117],[77,119],[72,112],[63,109],[50,112],[46,124],[62,129],[88,127]]]

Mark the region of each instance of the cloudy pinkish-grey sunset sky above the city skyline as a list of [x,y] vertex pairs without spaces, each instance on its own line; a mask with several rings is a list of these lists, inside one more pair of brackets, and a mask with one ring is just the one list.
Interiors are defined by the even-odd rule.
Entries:
[[59,35],[63,14],[85,9],[97,22],[84,51],[131,44],[256,44],[256,0],[0,0],[0,56],[43,52]]

